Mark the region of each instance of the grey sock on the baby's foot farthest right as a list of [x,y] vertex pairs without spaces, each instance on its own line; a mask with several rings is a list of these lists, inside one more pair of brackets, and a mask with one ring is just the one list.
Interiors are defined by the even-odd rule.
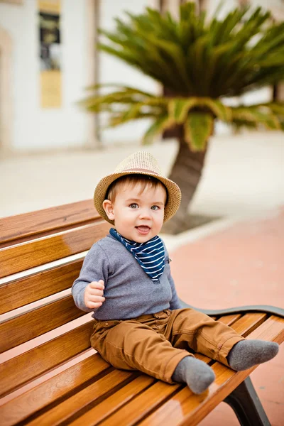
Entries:
[[278,354],[279,345],[265,340],[241,340],[236,343],[227,356],[233,370],[247,370],[252,366],[269,361]]

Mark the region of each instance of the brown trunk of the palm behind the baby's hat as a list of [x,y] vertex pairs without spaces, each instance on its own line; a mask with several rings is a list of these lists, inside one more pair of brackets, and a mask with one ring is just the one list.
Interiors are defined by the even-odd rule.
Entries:
[[182,202],[175,216],[163,226],[163,232],[168,234],[178,234],[188,227],[187,208],[197,188],[202,175],[204,158],[207,150],[203,152],[193,152],[185,142],[183,136],[179,138],[178,155],[170,172],[169,179],[178,184],[182,192]]

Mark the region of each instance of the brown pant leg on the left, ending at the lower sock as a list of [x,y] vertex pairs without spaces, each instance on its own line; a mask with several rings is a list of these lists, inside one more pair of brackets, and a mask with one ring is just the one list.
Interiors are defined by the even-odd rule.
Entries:
[[112,366],[143,371],[168,383],[173,383],[176,366],[189,355],[174,348],[163,334],[135,320],[98,322],[91,343]]

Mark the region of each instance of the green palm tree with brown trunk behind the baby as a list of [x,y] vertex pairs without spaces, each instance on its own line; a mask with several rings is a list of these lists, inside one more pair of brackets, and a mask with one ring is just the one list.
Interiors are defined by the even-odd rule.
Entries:
[[[198,15],[194,3],[180,6],[180,19],[158,11],[116,19],[116,31],[101,31],[99,48],[138,68],[165,87],[157,96],[134,87],[99,84],[82,101],[87,111],[109,113],[109,126],[153,119],[143,142],[175,129],[178,155],[169,178],[182,190],[182,204],[167,231],[182,229],[187,208],[200,180],[214,121],[254,129],[284,130],[284,104],[268,102],[237,107],[229,98],[284,79],[284,23],[272,23],[261,8],[235,9],[222,20]],[[109,90],[109,87],[107,87]]]

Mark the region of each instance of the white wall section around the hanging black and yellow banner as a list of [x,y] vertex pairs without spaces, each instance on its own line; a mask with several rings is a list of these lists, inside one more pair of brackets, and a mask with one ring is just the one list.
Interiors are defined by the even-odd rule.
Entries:
[[37,2],[0,3],[0,26],[13,40],[12,148],[38,151],[87,142],[89,118],[75,105],[87,84],[86,21],[85,0],[62,0],[62,107],[41,109]]

